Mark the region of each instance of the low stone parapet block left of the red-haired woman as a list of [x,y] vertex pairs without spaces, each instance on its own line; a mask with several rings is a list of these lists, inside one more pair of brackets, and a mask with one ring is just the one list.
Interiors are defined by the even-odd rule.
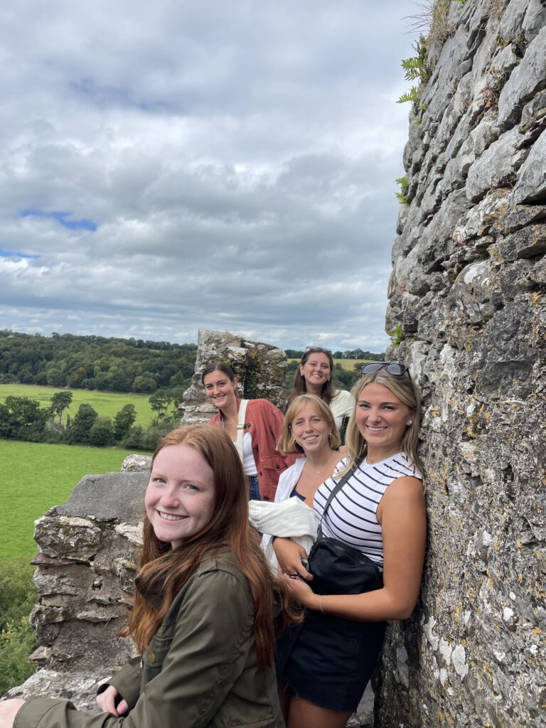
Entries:
[[87,475],[36,521],[34,659],[64,672],[114,670],[132,657],[127,623],[148,472]]

